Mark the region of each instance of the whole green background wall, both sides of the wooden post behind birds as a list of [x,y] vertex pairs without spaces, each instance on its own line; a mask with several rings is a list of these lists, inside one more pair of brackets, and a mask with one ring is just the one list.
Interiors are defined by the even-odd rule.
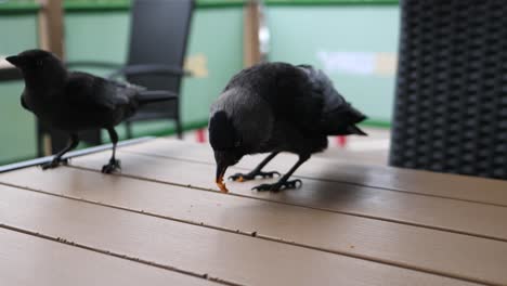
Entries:
[[[116,5],[99,6],[90,4],[90,1],[66,2],[68,61],[123,63],[128,47],[129,5],[126,0],[116,2]],[[386,125],[391,115],[394,72],[392,65],[386,68],[386,61],[379,60],[393,60],[395,55],[398,5],[393,0],[359,2],[360,5],[351,0],[268,1],[270,60],[309,63],[324,69],[332,67],[327,72],[338,90],[363,109],[374,123]],[[385,5],[372,5],[372,2]],[[242,0],[198,2],[187,55],[199,57],[200,66],[207,73],[183,81],[182,116],[188,128],[206,123],[210,103],[230,77],[243,67],[242,4]],[[17,12],[6,13],[0,5],[0,37],[8,39],[0,41],[0,55],[37,46],[37,5],[27,4]],[[343,55],[352,55],[356,63],[342,63]],[[329,61],[323,61],[324,57],[338,58],[341,67],[338,65],[336,68]],[[372,66],[372,61],[374,65],[384,63],[384,67],[374,66],[374,70],[368,73],[354,72],[354,68]],[[0,164],[35,155],[35,123],[32,116],[20,106],[22,89],[22,82],[0,82]],[[134,134],[164,134],[172,126],[166,121],[138,123],[134,125]],[[122,136],[123,129],[118,128],[118,131]]]

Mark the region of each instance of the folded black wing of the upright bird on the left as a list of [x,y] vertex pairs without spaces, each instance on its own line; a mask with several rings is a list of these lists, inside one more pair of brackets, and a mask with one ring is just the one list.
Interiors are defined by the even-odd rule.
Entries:
[[65,90],[67,99],[81,108],[116,109],[130,104],[136,90],[86,73],[70,73]]

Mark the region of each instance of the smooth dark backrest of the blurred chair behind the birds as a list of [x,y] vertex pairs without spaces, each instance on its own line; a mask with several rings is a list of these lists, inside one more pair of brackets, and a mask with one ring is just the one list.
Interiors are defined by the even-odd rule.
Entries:
[[[193,0],[134,0],[127,65],[162,64],[182,68],[193,9]],[[127,80],[151,90],[179,93],[181,77],[129,76]]]

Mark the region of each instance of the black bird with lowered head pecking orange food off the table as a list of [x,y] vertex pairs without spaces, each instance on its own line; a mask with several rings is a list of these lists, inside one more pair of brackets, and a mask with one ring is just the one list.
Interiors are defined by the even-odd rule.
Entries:
[[209,141],[217,161],[216,182],[227,192],[223,176],[244,155],[271,154],[249,173],[230,179],[246,181],[280,174],[262,168],[280,152],[299,156],[296,165],[274,184],[255,190],[280,191],[302,184],[289,181],[311,154],[327,147],[327,135],[366,135],[355,125],[364,120],[333,87],[330,79],[310,65],[263,63],[235,75],[212,104]]

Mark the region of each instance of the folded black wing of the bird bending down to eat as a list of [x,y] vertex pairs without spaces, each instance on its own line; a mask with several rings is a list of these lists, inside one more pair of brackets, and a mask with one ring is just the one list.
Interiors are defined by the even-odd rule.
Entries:
[[225,91],[247,89],[262,98],[278,121],[303,133],[347,134],[349,127],[365,117],[346,102],[330,79],[309,65],[263,63],[234,76]]

